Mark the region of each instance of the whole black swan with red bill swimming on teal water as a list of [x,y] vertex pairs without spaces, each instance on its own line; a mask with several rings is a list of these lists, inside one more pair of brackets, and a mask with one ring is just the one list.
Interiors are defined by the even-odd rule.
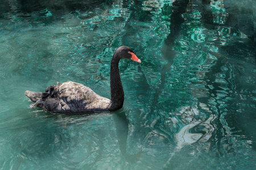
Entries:
[[39,107],[51,113],[91,113],[121,109],[125,99],[118,69],[121,58],[141,63],[128,46],[121,46],[115,51],[110,67],[111,99],[96,94],[82,84],[65,82],[47,87],[46,92],[26,91],[25,95],[35,102],[30,108]]

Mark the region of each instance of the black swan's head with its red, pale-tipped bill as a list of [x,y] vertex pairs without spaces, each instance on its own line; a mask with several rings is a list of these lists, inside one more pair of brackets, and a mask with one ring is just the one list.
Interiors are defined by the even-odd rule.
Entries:
[[120,58],[131,59],[133,61],[141,63],[141,59],[139,59],[133,52],[133,50],[129,46],[120,46],[115,53],[120,56]]

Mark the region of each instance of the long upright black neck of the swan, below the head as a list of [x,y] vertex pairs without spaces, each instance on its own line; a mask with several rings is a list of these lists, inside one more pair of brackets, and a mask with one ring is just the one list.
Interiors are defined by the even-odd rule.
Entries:
[[118,63],[120,58],[114,55],[111,61],[110,68],[110,88],[111,88],[111,105],[109,110],[117,110],[123,107],[123,100],[125,94],[123,93],[123,86],[119,74]]

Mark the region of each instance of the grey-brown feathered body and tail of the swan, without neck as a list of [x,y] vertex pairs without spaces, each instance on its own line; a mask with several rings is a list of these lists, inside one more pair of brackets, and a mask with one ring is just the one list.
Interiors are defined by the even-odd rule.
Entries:
[[26,91],[35,104],[52,113],[88,113],[108,111],[110,100],[96,94],[89,87],[75,82],[65,82],[57,86],[49,86],[46,92]]

